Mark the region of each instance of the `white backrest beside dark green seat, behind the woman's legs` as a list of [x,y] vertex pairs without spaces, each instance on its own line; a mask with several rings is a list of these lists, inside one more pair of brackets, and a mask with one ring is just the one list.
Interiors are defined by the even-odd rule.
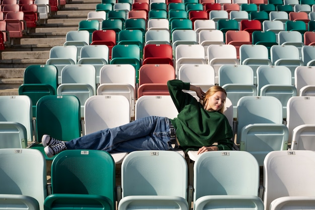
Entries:
[[129,100],[121,95],[91,96],[85,103],[84,116],[86,134],[127,124],[130,122]]

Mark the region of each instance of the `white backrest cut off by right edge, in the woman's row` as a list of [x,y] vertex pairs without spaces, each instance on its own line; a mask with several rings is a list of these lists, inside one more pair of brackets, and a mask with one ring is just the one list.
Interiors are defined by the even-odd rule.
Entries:
[[292,139],[292,130],[295,127],[304,124],[315,124],[315,114],[310,111],[314,104],[315,96],[295,96],[288,100],[286,122],[289,129],[289,143]]

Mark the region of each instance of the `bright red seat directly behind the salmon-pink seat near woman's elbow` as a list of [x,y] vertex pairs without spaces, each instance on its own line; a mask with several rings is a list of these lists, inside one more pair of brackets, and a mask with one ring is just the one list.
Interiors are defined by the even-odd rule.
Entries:
[[169,44],[147,44],[143,48],[142,64],[170,64],[173,66],[173,49]]

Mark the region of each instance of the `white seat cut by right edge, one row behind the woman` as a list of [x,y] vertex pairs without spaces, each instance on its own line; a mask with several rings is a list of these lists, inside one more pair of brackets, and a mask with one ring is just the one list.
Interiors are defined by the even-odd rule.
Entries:
[[294,78],[298,96],[315,96],[315,66],[298,66],[295,68]]

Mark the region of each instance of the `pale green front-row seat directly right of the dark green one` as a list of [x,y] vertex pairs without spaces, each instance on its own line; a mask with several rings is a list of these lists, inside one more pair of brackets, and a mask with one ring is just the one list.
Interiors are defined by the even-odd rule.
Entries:
[[135,151],[121,166],[118,209],[189,209],[187,163],[174,151]]

